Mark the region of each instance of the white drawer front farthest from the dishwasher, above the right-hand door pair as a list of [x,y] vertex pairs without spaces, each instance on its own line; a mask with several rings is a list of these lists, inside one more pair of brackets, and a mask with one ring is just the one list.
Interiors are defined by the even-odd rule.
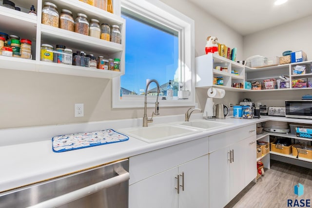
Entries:
[[209,136],[209,153],[256,135],[255,124]]

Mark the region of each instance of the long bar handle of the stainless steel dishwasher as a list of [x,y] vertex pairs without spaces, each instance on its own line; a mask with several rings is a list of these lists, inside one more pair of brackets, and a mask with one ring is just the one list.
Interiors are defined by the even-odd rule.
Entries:
[[92,193],[95,193],[101,189],[109,188],[124,181],[130,179],[130,174],[126,170],[121,170],[117,172],[117,176],[98,182],[96,184],[92,184],[90,186],[74,190],[69,193],[65,193],[61,196],[46,200],[44,202],[40,202],[39,204],[30,206],[28,208],[47,208],[47,207],[58,207],[64,205],[66,203],[75,201]]

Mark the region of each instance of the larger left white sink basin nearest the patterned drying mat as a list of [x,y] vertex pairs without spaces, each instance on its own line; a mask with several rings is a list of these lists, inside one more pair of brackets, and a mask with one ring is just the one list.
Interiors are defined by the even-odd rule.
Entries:
[[173,125],[155,125],[149,127],[134,127],[127,129],[120,129],[126,135],[133,136],[137,139],[143,140],[148,143],[157,142],[166,139],[176,138],[178,136],[185,136],[199,130],[183,128]]

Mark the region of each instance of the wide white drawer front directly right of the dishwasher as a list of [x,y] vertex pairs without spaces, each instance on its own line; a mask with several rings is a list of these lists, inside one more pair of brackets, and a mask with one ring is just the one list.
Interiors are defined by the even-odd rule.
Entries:
[[130,157],[129,185],[207,153],[208,137],[205,137]]

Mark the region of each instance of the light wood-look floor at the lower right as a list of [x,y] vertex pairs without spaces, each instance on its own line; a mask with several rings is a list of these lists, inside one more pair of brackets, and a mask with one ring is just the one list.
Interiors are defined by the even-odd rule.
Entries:
[[[298,183],[304,186],[302,196],[294,194],[293,187]],[[312,207],[312,165],[307,169],[271,160],[271,169],[265,170],[257,183],[250,183],[225,208],[287,208],[288,199],[297,199],[299,206],[301,199],[310,199]]]

